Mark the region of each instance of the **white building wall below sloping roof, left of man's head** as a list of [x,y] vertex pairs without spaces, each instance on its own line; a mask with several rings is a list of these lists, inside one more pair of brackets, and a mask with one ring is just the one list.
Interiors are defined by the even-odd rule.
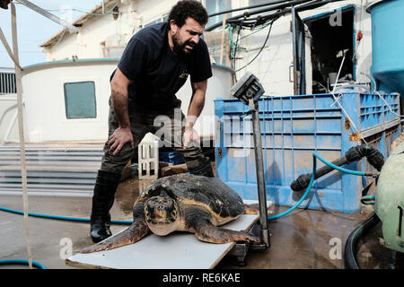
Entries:
[[123,0],[119,5],[117,20],[114,20],[112,14],[95,16],[78,28],[79,33],[66,32],[53,48],[44,48],[47,60],[120,57],[137,30],[155,21],[160,15],[169,13],[171,5],[175,3],[171,0]]

